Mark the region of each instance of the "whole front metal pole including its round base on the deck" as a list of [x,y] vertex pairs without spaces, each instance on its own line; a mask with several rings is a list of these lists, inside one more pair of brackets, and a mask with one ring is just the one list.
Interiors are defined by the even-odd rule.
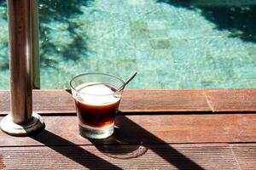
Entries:
[[[44,127],[32,113],[33,0],[8,0],[11,113],[1,121],[5,133],[24,136]],[[37,39],[38,40],[38,39]]]

